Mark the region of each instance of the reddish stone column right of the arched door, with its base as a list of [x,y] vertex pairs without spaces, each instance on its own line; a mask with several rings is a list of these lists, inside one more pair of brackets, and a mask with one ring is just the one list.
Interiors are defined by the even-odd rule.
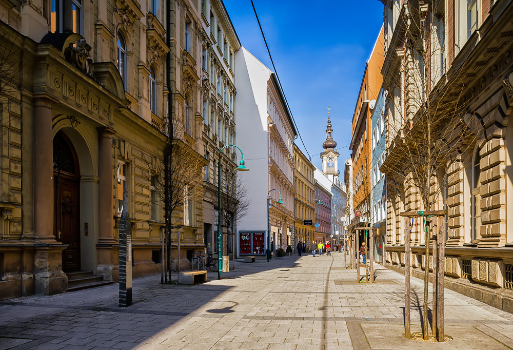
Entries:
[[97,273],[108,281],[116,281],[119,273],[119,256],[114,239],[114,210],[112,190],[112,135],[110,128],[98,129],[98,252]]

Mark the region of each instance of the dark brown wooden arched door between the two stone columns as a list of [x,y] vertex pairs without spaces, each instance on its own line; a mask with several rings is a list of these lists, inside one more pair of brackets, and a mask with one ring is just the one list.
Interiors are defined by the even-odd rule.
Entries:
[[54,235],[68,247],[63,251],[65,272],[80,270],[80,171],[73,145],[63,132],[53,138]]

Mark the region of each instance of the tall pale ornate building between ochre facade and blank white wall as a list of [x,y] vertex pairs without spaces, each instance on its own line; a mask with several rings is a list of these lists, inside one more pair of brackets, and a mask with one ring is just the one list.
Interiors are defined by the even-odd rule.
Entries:
[[[218,251],[218,161],[221,148],[235,143],[235,67],[234,55],[241,48],[239,38],[220,0],[203,1],[202,8],[202,91],[203,143],[205,144],[203,227],[207,254]],[[209,21],[207,21],[209,18]],[[222,208],[234,208],[226,199],[233,190],[238,150],[227,147],[221,152]],[[227,194],[228,193],[228,194]],[[228,202],[227,202],[228,201]],[[223,232],[234,233],[236,218],[226,212]],[[223,236],[223,254],[232,253],[233,236]],[[228,251],[226,251],[227,249]]]

